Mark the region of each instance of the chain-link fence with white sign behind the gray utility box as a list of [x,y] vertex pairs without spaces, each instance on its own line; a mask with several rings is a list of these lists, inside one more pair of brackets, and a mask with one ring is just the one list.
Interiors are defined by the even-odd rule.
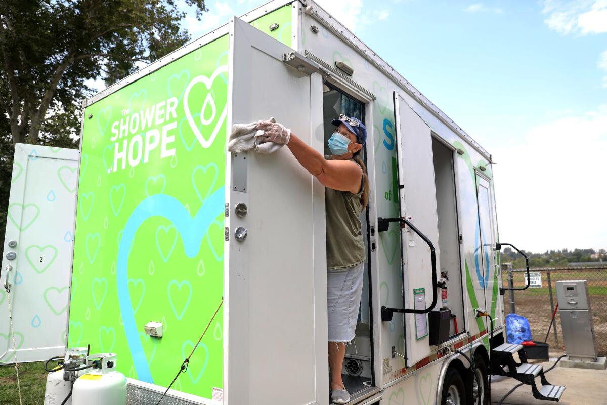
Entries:
[[[586,280],[588,296],[591,302],[592,322],[596,336],[599,356],[607,355],[607,265],[604,267],[536,268],[531,274],[533,284],[541,287],[529,287],[522,291],[506,291],[504,309],[506,315],[516,313],[529,319],[531,333],[535,341],[544,341],[551,348],[564,350],[563,333],[559,310],[556,311],[550,332],[552,314],[557,308],[557,289],[555,282],[566,280]],[[526,270],[512,270],[503,266],[503,286],[521,288],[527,284]]]

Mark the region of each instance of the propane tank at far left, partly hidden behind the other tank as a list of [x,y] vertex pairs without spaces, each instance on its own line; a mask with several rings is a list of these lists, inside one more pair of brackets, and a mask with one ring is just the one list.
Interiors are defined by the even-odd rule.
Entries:
[[[63,360],[63,366],[55,367],[56,371],[50,372],[46,378],[46,390],[44,391],[44,405],[61,404],[70,395],[72,384],[78,378],[78,369],[86,364],[86,347],[75,347],[67,349]],[[67,369],[67,370],[66,370]],[[69,398],[64,405],[72,404]]]

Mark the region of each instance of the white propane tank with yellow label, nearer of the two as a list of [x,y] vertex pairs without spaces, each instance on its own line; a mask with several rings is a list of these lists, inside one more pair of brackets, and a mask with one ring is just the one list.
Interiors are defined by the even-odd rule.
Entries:
[[93,370],[76,379],[72,405],[126,405],[126,377],[116,370],[116,355],[90,355],[87,364]]

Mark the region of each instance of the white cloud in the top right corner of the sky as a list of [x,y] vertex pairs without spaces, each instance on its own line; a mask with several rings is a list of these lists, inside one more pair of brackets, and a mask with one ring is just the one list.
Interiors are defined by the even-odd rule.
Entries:
[[607,32],[607,0],[544,0],[543,5],[544,22],[563,35]]

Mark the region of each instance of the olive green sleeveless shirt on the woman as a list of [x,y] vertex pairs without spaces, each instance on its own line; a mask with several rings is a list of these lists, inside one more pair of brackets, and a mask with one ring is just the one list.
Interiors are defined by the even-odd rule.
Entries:
[[350,267],[365,261],[361,233],[361,203],[364,179],[357,194],[325,188],[327,213],[327,270]]

